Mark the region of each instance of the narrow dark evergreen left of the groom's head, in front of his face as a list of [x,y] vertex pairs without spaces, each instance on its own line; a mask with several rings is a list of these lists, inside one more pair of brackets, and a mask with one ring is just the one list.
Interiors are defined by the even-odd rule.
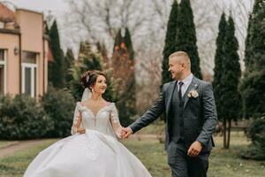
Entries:
[[163,64],[162,64],[162,82],[166,83],[172,81],[169,69],[169,57],[170,54],[175,51],[176,35],[177,35],[177,23],[178,19],[178,2],[173,1],[170,11],[170,19],[168,21],[167,33],[163,48]]

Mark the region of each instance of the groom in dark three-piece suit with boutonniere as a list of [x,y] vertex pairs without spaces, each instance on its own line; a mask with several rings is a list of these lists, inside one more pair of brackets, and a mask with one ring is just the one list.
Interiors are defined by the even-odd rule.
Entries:
[[169,71],[175,81],[165,83],[155,104],[140,119],[123,129],[124,138],[166,115],[165,149],[173,177],[204,177],[217,114],[212,86],[191,73],[184,51],[172,53]]

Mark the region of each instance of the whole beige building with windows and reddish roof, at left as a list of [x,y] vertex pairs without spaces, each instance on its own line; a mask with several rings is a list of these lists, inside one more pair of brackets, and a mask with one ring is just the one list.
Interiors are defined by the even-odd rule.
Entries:
[[43,15],[0,3],[0,94],[42,96],[48,85]]

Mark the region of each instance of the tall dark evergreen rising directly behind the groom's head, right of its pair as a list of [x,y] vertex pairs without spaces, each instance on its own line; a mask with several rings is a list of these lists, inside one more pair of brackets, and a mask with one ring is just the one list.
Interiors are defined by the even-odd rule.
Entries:
[[186,51],[191,58],[193,74],[201,79],[200,58],[196,44],[197,38],[190,0],[181,0],[177,23],[179,26],[177,29],[175,50]]

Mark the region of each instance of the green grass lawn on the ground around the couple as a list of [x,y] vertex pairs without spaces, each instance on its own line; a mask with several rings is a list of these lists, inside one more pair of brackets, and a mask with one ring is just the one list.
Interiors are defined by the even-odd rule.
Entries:
[[[30,150],[17,152],[13,157],[0,159],[0,177],[20,177],[29,162],[38,151],[49,146],[57,140],[49,140],[42,146]],[[231,137],[231,150],[222,149],[222,138],[215,137],[216,148],[210,156],[209,177],[263,177],[265,174],[265,161],[243,160],[239,158],[240,150],[246,149],[246,137],[241,133],[233,133]],[[166,163],[166,154],[163,144],[155,140],[127,140],[123,141],[154,177],[170,177],[170,169]]]

